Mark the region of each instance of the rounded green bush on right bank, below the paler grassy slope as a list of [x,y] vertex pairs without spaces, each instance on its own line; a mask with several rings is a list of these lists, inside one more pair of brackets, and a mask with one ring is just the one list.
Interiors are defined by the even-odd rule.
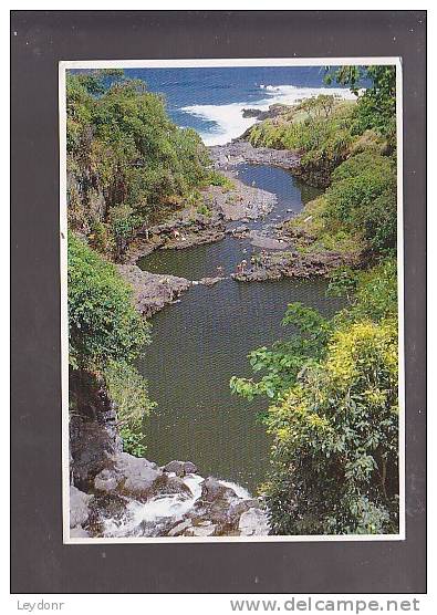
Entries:
[[[396,161],[373,149],[357,152],[332,173],[331,185],[287,223],[301,251],[396,251]],[[308,242],[308,238],[311,242]]]

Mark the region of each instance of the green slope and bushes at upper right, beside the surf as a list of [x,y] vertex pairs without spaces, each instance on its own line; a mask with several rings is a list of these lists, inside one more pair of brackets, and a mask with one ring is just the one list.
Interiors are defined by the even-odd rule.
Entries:
[[[299,251],[395,253],[395,77],[393,66],[344,66],[326,80],[348,83],[355,103],[320,95],[251,128],[252,145],[298,150],[296,173],[327,188],[285,225]],[[360,79],[371,83],[364,91]]]

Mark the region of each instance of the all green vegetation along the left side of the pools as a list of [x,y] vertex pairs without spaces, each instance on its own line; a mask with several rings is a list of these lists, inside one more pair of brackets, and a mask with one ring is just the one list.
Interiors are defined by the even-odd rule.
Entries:
[[72,376],[104,381],[124,449],[141,456],[154,404],[134,362],[149,326],[110,261],[122,259],[138,228],[181,206],[210,216],[201,189],[232,183],[209,168],[195,131],[169,121],[164,98],[123,71],[67,73],[66,115]]

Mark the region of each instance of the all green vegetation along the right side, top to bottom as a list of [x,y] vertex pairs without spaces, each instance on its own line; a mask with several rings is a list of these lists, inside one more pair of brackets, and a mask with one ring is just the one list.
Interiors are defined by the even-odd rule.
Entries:
[[348,306],[330,320],[290,304],[293,334],[250,353],[257,378],[231,379],[233,393],[270,403],[261,492],[277,534],[398,531],[395,69],[348,66],[333,79],[367,87],[356,104],[305,101],[249,135],[299,150],[303,177],[326,188],[285,226],[298,250],[356,254],[366,268],[332,272],[327,292]]

